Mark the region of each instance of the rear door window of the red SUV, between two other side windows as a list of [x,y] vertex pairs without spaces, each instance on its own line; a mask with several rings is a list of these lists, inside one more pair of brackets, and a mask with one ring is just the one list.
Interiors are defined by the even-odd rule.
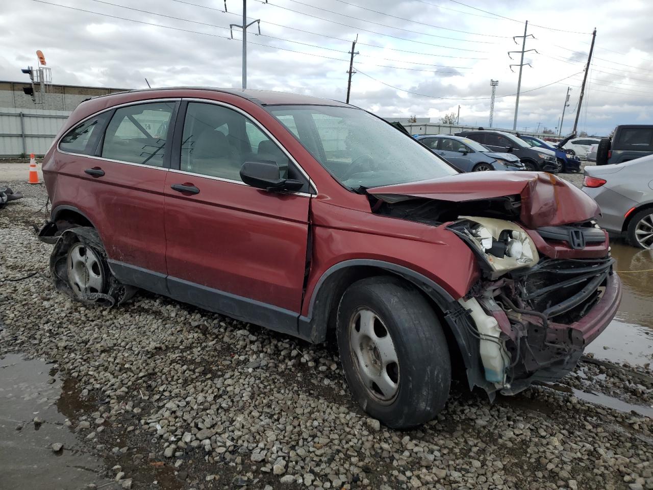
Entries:
[[174,106],[174,102],[156,102],[116,110],[106,127],[102,157],[163,167]]

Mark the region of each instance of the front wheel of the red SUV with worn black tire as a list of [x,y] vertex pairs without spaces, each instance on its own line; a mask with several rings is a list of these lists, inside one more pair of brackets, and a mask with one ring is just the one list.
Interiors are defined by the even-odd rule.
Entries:
[[[363,348],[360,333],[362,314],[371,312],[372,347]],[[369,314],[369,313],[368,313]],[[358,329],[358,330],[357,330]],[[385,332],[385,335],[383,333]],[[447,339],[438,317],[428,301],[411,284],[388,276],[362,279],[352,284],[338,307],[338,350],[347,383],[358,404],[370,416],[388,427],[403,429],[431,420],[444,408],[451,385],[451,361]],[[368,337],[371,339],[371,337]],[[360,366],[359,359],[368,359],[383,349],[381,342],[390,340],[397,362],[385,365],[383,355],[378,362]],[[358,342],[357,345],[353,345]],[[377,349],[377,345],[379,349]],[[360,355],[360,357],[359,357]],[[366,371],[379,377],[387,375],[396,391],[383,399],[383,393],[366,385]],[[378,388],[378,385],[377,385]]]

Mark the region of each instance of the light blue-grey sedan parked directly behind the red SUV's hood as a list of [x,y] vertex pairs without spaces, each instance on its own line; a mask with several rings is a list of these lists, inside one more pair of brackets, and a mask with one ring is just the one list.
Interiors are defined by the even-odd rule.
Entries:
[[417,135],[415,139],[461,172],[526,170],[526,166],[515,155],[492,152],[490,148],[469,138],[453,135]]

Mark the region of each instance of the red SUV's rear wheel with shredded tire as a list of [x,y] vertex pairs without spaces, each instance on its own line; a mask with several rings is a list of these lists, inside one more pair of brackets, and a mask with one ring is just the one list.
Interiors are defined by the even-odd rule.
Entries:
[[[78,271],[75,263],[80,266]],[[90,227],[71,228],[61,234],[50,255],[50,272],[59,291],[88,305],[121,304],[137,291],[114,277],[102,240]]]

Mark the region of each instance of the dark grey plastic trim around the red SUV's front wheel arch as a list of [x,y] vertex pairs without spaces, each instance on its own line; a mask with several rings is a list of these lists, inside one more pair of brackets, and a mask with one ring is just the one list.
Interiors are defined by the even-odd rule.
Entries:
[[[481,365],[479,342],[477,337],[473,335],[476,329],[468,312],[466,312],[460,303],[453,299],[453,297],[434,280],[402,265],[374,259],[351,259],[332,265],[322,274],[317,281],[317,284],[315,284],[308,306],[308,316],[300,316],[299,318],[298,333],[301,338],[315,344],[326,340],[329,327],[328,319],[323,315],[316,314],[316,307],[319,306],[316,306],[315,304],[319,297],[321,288],[325,286],[325,284],[328,286],[329,278],[334,277],[333,274],[336,274],[336,272],[342,272],[351,267],[360,266],[387,270],[390,274],[400,276],[408,282],[411,282],[411,284],[422,291],[422,293],[427,295],[438,306],[440,313],[447,324],[446,327],[449,327],[451,336],[453,336],[456,341],[467,371],[470,389],[474,385],[477,385],[486,390],[488,388],[494,390],[494,387],[488,387],[488,382],[485,380],[483,366]],[[443,325],[443,327],[445,327],[445,325]]]

